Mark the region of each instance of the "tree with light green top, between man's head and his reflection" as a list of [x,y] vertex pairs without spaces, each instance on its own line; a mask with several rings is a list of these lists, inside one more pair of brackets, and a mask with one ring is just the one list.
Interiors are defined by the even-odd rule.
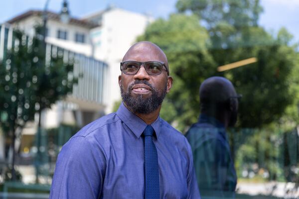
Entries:
[[207,31],[195,15],[172,14],[168,20],[158,19],[150,24],[138,40],[151,41],[165,52],[174,82],[160,114],[184,131],[198,117],[200,83],[216,71],[207,49]]

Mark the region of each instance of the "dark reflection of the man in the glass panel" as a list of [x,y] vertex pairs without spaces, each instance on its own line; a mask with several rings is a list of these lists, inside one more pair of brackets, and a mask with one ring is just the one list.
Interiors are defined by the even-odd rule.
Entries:
[[192,147],[201,196],[234,198],[237,184],[225,129],[237,121],[238,96],[222,77],[205,80],[199,89],[201,114],[186,137]]

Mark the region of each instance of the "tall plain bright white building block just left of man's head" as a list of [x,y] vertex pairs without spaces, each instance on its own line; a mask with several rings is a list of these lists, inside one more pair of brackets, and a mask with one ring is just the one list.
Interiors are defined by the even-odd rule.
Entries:
[[142,35],[153,19],[147,15],[130,12],[120,8],[108,8],[104,11],[84,17],[83,20],[96,22],[98,27],[90,31],[93,56],[109,65],[109,83],[106,113],[112,111],[113,103],[120,100],[118,76],[120,62],[129,47]]

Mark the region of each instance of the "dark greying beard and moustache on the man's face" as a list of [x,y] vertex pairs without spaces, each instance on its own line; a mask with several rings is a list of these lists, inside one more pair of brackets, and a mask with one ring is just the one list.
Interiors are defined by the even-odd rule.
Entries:
[[[132,88],[136,84],[145,84],[150,87],[151,89],[151,96],[149,98],[143,98],[143,95],[138,95],[137,98],[133,98],[131,96]],[[166,95],[167,83],[165,88],[161,94],[152,87],[148,81],[146,80],[136,80],[134,84],[130,85],[127,92],[124,92],[123,85],[121,85],[121,95],[122,99],[127,105],[127,107],[133,113],[140,113],[140,114],[149,114],[155,111],[162,103],[163,99]]]

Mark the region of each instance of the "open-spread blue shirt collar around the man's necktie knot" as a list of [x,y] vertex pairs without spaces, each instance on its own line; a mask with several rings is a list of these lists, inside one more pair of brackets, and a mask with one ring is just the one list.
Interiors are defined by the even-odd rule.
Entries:
[[[138,117],[136,114],[128,110],[128,108],[122,102],[116,114],[121,118],[121,120],[132,130],[137,138],[140,138],[142,133],[147,127],[147,123]],[[159,137],[160,134],[160,117],[152,122],[151,127],[153,128],[156,137]]]

